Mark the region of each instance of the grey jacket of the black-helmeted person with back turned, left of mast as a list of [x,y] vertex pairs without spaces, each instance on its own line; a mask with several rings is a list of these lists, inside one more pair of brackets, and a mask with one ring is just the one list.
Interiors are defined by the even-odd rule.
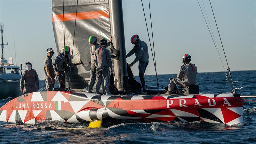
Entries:
[[110,52],[104,46],[101,46],[94,52],[94,62],[97,67],[105,67],[113,68]]

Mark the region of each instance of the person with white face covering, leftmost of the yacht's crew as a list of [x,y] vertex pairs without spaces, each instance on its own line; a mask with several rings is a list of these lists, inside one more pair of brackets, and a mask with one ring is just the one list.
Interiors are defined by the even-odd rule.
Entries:
[[22,73],[20,78],[20,92],[24,92],[24,94],[36,92],[39,88],[39,79],[36,70],[32,68],[30,62],[26,62],[25,67],[26,70]]

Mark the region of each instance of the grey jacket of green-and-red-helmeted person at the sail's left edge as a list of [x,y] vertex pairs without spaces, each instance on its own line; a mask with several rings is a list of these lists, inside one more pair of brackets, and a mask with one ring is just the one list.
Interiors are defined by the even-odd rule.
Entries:
[[71,54],[68,54],[68,57],[65,58],[64,53],[58,53],[58,55],[54,57],[53,64],[52,64],[54,71],[55,72],[65,71],[65,63],[66,63],[66,66],[68,67],[70,67],[70,65],[71,67],[74,67],[75,64],[71,63],[71,57],[72,57]]

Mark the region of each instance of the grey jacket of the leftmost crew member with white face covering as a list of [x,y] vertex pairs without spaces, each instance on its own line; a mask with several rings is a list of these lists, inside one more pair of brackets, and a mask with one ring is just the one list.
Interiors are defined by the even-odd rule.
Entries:
[[35,82],[36,86],[39,86],[39,79],[36,70],[33,68],[31,68],[30,71],[25,70],[20,78],[20,88],[23,89],[23,87],[26,86],[35,86]]

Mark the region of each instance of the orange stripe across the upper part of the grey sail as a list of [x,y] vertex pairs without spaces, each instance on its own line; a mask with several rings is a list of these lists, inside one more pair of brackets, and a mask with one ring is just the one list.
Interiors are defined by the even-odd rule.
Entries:
[[[76,13],[64,14],[65,21],[100,19],[100,18],[109,18],[109,11],[77,12],[77,15]],[[52,15],[52,22],[64,21],[64,20],[63,20],[63,14]]]

